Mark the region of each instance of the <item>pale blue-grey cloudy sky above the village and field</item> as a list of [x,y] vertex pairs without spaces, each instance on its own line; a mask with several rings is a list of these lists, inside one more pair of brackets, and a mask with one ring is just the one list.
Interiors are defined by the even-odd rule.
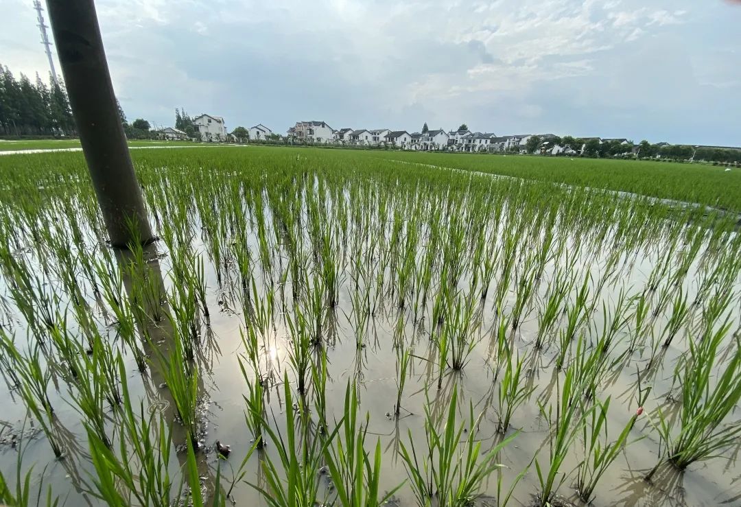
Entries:
[[[31,0],[0,63],[48,73]],[[731,0],[97,0],[130,119],[296,120],[741,145]]]

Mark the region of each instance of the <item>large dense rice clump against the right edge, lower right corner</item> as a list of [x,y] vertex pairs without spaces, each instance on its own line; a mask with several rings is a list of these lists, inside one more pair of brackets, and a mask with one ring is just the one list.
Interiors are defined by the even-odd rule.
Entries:
[[[709,460],[737,443],[741,423],[726,422],[741,400],[741,343],[736,339],[730,359],[717,364],[718,348],[731,323],[710,323],[702,337],[689,339],[689,358],[677,366],[676,380],[682,385],[679,420],[675,421],[657,409],[649,421],[664,444],[659,463],[648,473],[651,479],[659,465],[668,461],[684,470],[696,461]],[[714,381],[711,379],[717,375]],[[675,425],[679,423],[679,428]]]

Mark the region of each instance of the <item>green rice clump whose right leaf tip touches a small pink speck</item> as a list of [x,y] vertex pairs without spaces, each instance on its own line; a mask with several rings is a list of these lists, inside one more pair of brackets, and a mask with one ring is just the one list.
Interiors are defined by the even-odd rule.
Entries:
[[[594,500],[597,483],[619,454],[630,444],[628,434],[639,417],[639,412],[631,416],[617,440],[609,441],[607,424],[609,408],[610,397],[605,402],[596,400],[594,410],[589,412],[585,424],[582,425],[584,460],[576,467],[576,491],[585,503]],[[639,410],[642,411],[642,409]]]

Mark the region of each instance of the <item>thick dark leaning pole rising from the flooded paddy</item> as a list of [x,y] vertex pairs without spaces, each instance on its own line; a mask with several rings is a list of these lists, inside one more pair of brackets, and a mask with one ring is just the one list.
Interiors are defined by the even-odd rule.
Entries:
[[[47,0],[70,106],[110,244],[153,241],[116,107],[93,0]],[[132,230],[132,225],[136,229]]]

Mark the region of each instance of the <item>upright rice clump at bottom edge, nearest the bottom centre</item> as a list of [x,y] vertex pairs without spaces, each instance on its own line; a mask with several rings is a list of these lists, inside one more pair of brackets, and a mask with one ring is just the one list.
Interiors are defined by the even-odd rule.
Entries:
[[365,450],[368,433],[368,416],[365,427],[358,420],[359,400],[356,386],[348,382],[345,388],[345,417],[339,422],[333,443],[325,446],[324,457],[329,476],[336,491],[336,504],[342,507],[382,506],[402,484],[381,494],[381,440],[376,439],[376,448],[371,461]]

